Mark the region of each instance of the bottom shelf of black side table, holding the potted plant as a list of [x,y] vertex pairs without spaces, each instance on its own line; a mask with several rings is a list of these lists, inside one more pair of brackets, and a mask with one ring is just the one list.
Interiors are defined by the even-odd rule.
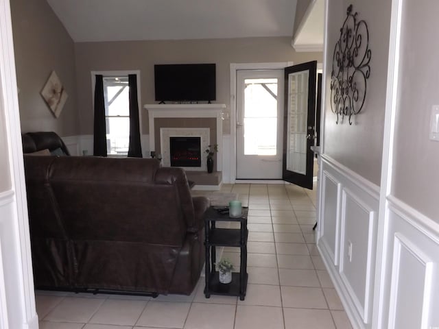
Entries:
[[[241,273],[232,272],[232,282],[224,284],[219,282],[219,273],[217,271],[211,272],[209,276],[209,293],[204,288],[204,295],[206,298],[211,297],[211,295],[231,295],[239,296],[239,300],[244,300],[246,297],[248,273],[244,275],[242,285],[239,284],[240,276]],[[239,291],[239,287],[243,287],[243,291]]]

